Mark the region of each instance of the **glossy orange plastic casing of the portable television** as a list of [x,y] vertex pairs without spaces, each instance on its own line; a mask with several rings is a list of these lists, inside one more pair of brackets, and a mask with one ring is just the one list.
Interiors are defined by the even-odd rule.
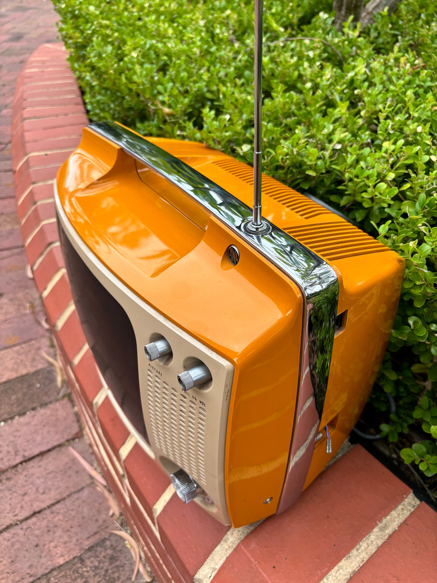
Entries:
[[[230,157],[192,142],[147,139],[251,206],[251,185],[217,165]],[[151,307],[234,365],[225,446],[228,512],[235,527],[274,514],[299,381],[304,298],[298,286],[199,203],[90,129],[59,170],[57,185],[69,221],[94,255]],[[263,216],[281,229],[344,223],[322,207],[304,218],[266,194]],[[240,251],[237,266],[227,259],[231,244]],[[324,440],[316,444],[305,486],[360,416],[404,271],[403,260],[385,248],[330,264],[340,284],[338,313],[347,311],[334,338],[321,420],[332,430],[333,453],[326,454]]]

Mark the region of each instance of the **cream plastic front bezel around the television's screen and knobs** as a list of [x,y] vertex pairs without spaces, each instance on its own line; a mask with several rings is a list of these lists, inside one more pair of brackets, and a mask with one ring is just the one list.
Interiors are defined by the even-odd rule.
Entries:
[[[168,449],[166,450],[165,445],[162,447],[162,444],[158,443],[156,431],[152,427],[149,400],[147,398],[147,370],[150,370],[150,368],[152,370],[155,369],[153,373],[156,373],[163,382],[167,382],[169,387],[177,389],[179,393],[183,393],[183,391],[179,387],[177,375],[184,370],[184,361],[189,358],[199,359],[211,371],[213,380],[210,382],[207,390],[193,388],[189,391],[189,395],[195,397],[197,402],[202,401],[205,403],[205,409],[207,411],[207,430],[205,431],[205,443],[203,446],[205,456],[204,475],[206,479],[202,479],[200,475],[189,473],[206,491],[213,504],[207,503],[203,497],[196,498],[196,501],[205,510],[214,514],[214,517],[220,522],[225,525],[230,525],[225,497],[224,456],[234,366],[228,360],[202,345],[198,340],[192,338],[191,335],[168,321],[168,319],[151,308],[150,305],[136,296],[135,293],[115,277],[101,263],[96,255],[90,251],[87,245],[84,244],[79,234],[77,234],[69,222],[59,200],[56,182],[54,189],[55,205],[59,221],[71,244],[93,275],[124,308],[133,326],[138,352],[140,394],[146,430],[150,439],[150,447],[139,436],[138,432],[135,432],[135,437],[139,442],[144,441],[142,447],[145,451],[150,451],[150,449],[153,451],[157,461],[167,473],[171,473],[174,468],[171,469],[165,461],[163,463],[163,459],[168,459]],[[170,364],[159,361],[150,363],[147,360],[144,346],[156,334],[164,336],[170,342],[173,350],[173,357]],[[113,396],[111,400],[114,401]],[[176,414],[178,415],[178,413]],[[125,415],[122,415],[121,419],[126,422]],[[128,426],[128,423],[126,423],[126,426]],[[129,423],[129,426],[131,426],[131,423]],[[195,445],[197,447],[197,444]],[[174,459],[171,459],[171,462],[174,462],[175,466],[181,467]],[[182,469],[189,470],[189,468]]]

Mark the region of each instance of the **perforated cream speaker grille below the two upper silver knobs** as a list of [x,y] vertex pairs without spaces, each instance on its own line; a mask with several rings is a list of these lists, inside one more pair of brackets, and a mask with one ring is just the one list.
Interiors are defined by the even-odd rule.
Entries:
[[206,484],[206,410],[147,370],[153,438],[164,455]]

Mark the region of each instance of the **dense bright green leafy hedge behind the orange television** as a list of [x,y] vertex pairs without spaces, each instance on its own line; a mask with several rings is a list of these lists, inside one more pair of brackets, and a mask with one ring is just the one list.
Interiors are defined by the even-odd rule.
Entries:
[[[251,2],[55,0],[55,6],[93,120],[206,142],[252,161]],[[331,6],[266,1],[264,170],[337,205],[406,258],[372,401],[383,411],[383,391],[396,399],[397,416],[381,426],[389,440],[413,423],[426,432],[402,455],[431,477],[437,474],[437,7],[406,0],[365,31],[345,26],[338,33]],[[297,36],[316,40],[278,42]]]

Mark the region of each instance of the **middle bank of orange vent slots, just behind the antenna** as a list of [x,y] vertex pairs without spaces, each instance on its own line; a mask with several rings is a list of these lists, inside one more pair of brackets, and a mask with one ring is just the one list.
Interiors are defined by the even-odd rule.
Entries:
[[[253,185],[253,168],[251,166],[243,162],[238,162],[237,160],[232,160],[229,157],[225,160],[214,161],[214,164],[243,182],[246,182],[246,184]],[[323,208],[323,206],[311,201],[303,194],[296,192],[292,188],[281,184],[281,182],[265,174],[262,177],[262,194],[273,198],[274,201],[280,202],[281,205],[293,210],[297,215],[305,219],[312,219],[312,217],[330,213],[330,210]]]

